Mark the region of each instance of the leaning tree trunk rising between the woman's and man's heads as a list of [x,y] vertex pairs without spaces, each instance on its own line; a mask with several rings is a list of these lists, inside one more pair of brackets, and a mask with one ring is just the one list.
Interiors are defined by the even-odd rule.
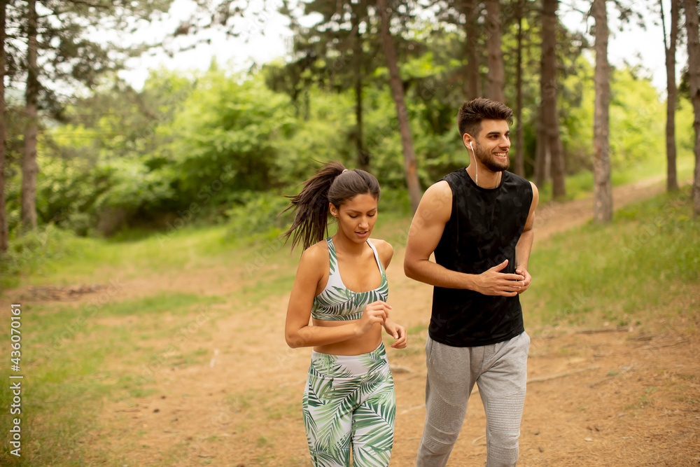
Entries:
[[413,139],[411,137],[411,128],[409,127],[408,111],[403,99],[403,85],[401,84],[398,64],[396,64],[396,53],[393,41],[391,41],[391,32],[389,31],[386,1],[378,0],[377,8],[379,8],[379,14],[381,15],[381,41],[384,45],[386,66],[389,69],[389,81],[391,83],[391,95],[396,104],[396,116],[398,118],[399,132],[401,134],[406,186],[408,187],[408,195],[411,199],[411,207],[415,214],[416,209],[418,209],[418,204],[421,202],[421,183],[418,180],[418,173],[416,172],[416,155],[413,151]]

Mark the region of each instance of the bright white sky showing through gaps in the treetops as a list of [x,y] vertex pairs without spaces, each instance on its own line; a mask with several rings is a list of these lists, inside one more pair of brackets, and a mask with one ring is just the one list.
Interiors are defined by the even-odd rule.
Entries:
[[[586,2],[577,1],[584,5]],[[646,28],[637,25],[626,25],[619,31],[619,21],[616,12],[608,5],[608,17],[610,18],[610,40],[608,43],[608,58],[615,66],[622,66],[626,61],[630,65],[640,64],[647,70],[647,76],[652,77],[653,85],[659,90],[666,88],[666,66],[663,42],[663,31],[659,14],[656,11],[645,12]],[[148,76],[148,69],[153,67],[166,67],[180,70],[206,70],[211,60],[216,58],[219,64],[230,66],[233,71],[244,71],[251,67],[253,62],[262,64],[283,57],[288,50],[292,33],[287,27],[288,20],[278,13],[281,0],[267,0],[265,2],[251,0],[251,9],[244,13],[236,23],[236,30],[241,32],[237,38],[226,37],[221,32],[209,30],[206,37],[211,39],[210,44],[200,44],[193,50],[179,53],[176,57],[168,57],[165,53],[156,53],[153,56],[140,57],[127,62],[129,69],[122,71],[121,76],[132,83],[135,88],[141,88]],[[571,30],[588,30],[593,25],[593,20],[586,18],[582,13],[573,11],[570,3],[561,4],[560,18],[564,25]],[[139,30],[134,36],[134,41],[163,36],[167,32],[174,31],[194,11],[194,3],[191,0],[174,0],[168,18],[158,24],[150,25]],[[668,17],[670,16],[670,0],[664,0],[666,22],[668,31]],[[254,14],[257,13],[257,14]],[[183,46],[191,41],[190,38],[180,37],[174,46]],[[591,39],[592,43],[592,39]],[[677,73],[687,55],[684,48],[678,48]]]

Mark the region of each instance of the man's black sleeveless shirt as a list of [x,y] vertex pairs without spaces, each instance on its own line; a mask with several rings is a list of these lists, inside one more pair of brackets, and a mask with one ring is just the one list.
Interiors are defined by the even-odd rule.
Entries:
[[[452,190],[452,212],[435,248],[435,261],[449,270],[480,274],[508,260],[515,272],[515,246],[525,227],[533,191],[529,181],[503,172],[497,188],[481,188],[462,168],[443,180]],[[452,347],[496,344],[525,330],[519,295],[501,297],[458,288],[433,288],[430,338]]]

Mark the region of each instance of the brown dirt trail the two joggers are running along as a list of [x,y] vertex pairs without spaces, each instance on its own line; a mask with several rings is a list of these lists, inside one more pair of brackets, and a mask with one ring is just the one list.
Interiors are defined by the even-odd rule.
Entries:
[[[659,181],[616,188],[615,207],[663,189]],[[591,203],[543,205],[536,241],[587,221]],[[392,305],[401,310],[407,329],[417,329],[429,321],[432,290],[405,277],[402,256],[397,248],[387,270]],[[192,274],[125,281],[123,290],[127,296],[168,290],[207,294],[235,288],[240,279],[232,274],[233,279],[222,281],[202,270],[190,281]],[[207,349],[208,362],[181,370],[163,365],[153,376],[151,396],[107,401],[102,428],[85,442],[130,466],[310,465],[300,402],[311,350],[288,349],[283,341],[287,300],[288,294],[271,295],[264,304],[218,319],[206,340],[183,342],[183,351]],[[126,317],[123,321],[123,326],[136,326]],[[679,316],[649,323],[645,333],[636,328],[528,329],[532,340],[519,465],[699,465],[700,341],[687,333],[698,326]],[[408,349],[388,349],[397,394],[391,466],[414,465],[425,417],[425,337],[423,330],[410,335]],[[160,342],[160,347],[168,344]],[[475,397],[449,465],[484,465],[483,434],[484,412]],[[91,460],[97,458],[86,459]]]

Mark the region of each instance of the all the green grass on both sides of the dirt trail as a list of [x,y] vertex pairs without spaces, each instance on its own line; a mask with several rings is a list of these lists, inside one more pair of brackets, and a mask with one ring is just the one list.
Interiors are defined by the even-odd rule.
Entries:
[[[402,246],[409,223],[409,215],[388,212],[375,236]],[[65,250],[71,254],[55,254],[38,272],[21,278],[23,285],[74,284],[106,281],[124,270],[143,277],[168,274],[174,268],[179,272],[190,267],[196,272],[221,267],[232,272],[238,268],[242,279],[236,291],[223,297],[155,292],[128,300],[114,295],[82,306],[23,305],[22,330],[27,332],[22,337],[22,368],[28,377],[22,392],[22,439],[26,440],[22,454],[26,465],[90,463],[78,459],[118,463],[120,454],[96,452],[90,443],[92,433],[102,429],[99,414],[104,401],[135,403],[153,394],[153,383],[165,377],[166,366],[206,364],[209,354],[200,342],[211,338],[211,325],[223,313],[216,305],[226,305],[230,313],[241,309],[235,305],[287,293],[300,251],[290,254],[274,232],[239,239],[226,234],[226,228],[218,226],[184,228],[165,240],[158,236],[125,236],[120,241],[71,238]],[[609,225],[589,224],[555,235],[538,245],[530,268],[538,292],[522,295],[528,327],[644,326],[659,317],[696,314],[700,221],[692,219],[689,189],[630,204],[617,211]],[[202,309],[212,310],[206,323],[190,326]],[[692,327],[696,321],[688,322]],[[415,326],[409,333],[419,335],[425,329]],[[182,339],[191,345],[180,345]],[[7,381],[8,372],[0,370],[0,377]],[[276,421],[298,408],[297,401],[266,404],[279,397],[272,389],[241,391],[226,400],[225,414],[255,412]],[[0,404],[8,407],[11,397],[7,385],[2,385]],[[641,397],[651,400],[652,392]],[[640,402],[647,403],[641,398]],[[8,433],[10,427],[10,418],[1,417],[0,432]],[[273,435],[256,432],[251,436],[253,443],[265,448],[265,456],[273,454]],[[13,463],[7,437],[3,442],[0,463]],[[138,436],[133,442],[141,444]],[[174,446],[170,455],[189,459],[188,446]],[[167,459],[162,465],[167,465]]]

